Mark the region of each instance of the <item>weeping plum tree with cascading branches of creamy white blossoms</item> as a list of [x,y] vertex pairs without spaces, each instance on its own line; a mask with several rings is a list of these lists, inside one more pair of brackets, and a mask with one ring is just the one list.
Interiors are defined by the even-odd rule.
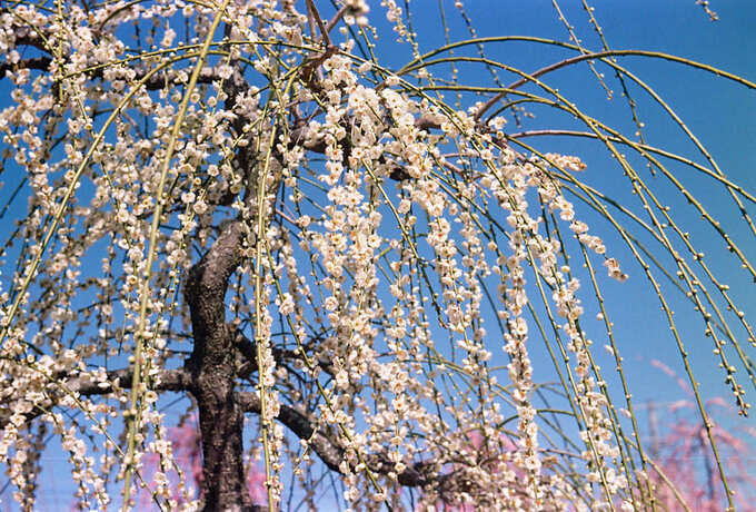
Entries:
[[[68,475],[43,464],[54,445],[81,509],[146,489],[159,510],[685,506],[639,443],[637,344],[613,324],[628,266],[736,505],[672,307],[697,312],[702,367],[747,414],[756,339],[720,270],[756,276],[755,198],[625,61],[756,85],[611,49],[587,4],[593,47],[556,2],[564,41],[478,38],[462,2],[418,2],[446,38],[428,51],[399,3],[0,2],[0,460],[21,509],[40,473]],[[523,45],[554,60],[489,57]],[[621,91],[637,132],[561,92],[564,70]],[[646,140],[636,99],[696,152]],[[560,139],[591,140],[611,178]],[[704,257],[713,240],[725,259]],[[169,435],[176,401],[201,477]]]

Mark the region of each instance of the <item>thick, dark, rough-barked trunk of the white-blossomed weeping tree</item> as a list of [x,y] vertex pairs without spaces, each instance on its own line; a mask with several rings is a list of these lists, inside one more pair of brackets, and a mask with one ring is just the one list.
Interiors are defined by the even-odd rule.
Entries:
[[241,263],[239,221],[221,225],[218,239],[189,270],[185,295],[195,346],[187,361],[202,436],[206,512],[248,512],[252,506],[243,464],[243,411],[236,385],[233,336],[226,323],[228,279]]

